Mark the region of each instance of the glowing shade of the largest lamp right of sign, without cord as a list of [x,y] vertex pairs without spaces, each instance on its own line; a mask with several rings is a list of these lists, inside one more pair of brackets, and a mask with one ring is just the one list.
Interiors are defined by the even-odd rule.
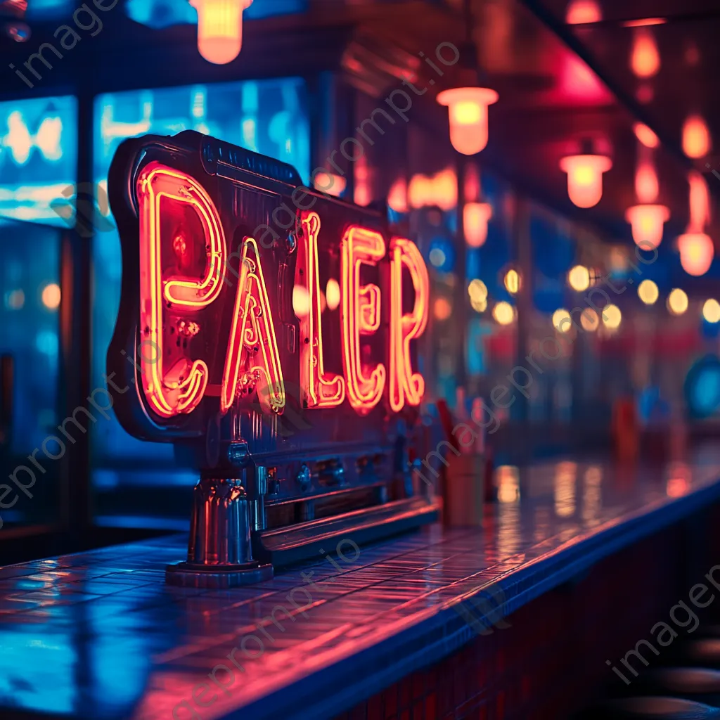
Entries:
[[489,88],[454,88],[438,94],[450,116],[450,142],[463,155],[474,155],[487,145],[487,106],[498,102]]

